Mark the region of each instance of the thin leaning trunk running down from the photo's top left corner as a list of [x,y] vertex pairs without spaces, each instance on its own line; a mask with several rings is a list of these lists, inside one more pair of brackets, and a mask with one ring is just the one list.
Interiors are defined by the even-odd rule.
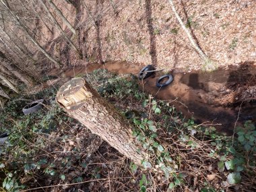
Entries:
[[20,21],[20,18],[18,18],[17,15],[15,15],[15,13],[13,13],[13,11],[11,11],[11,9],[9,9],[9,6],[3,1],[0,0],[1,3],[7,8],[7,10],[9,11],[9,13],[11,13],[11,15],[13,16],[13,19],[18,22],[18,24],[20,24],[20,26],[25,30],[26,34],[28,35],[28,37],[30,38],[30,40],[36,44],[36,46],[38,46],[38,49],[40,51],[42,51],[42,53],[44,53],[44,55],[50,59],[51,61],[53,61],[53,63],[55,63],[55,65],[57,65],[58,67],[61,66],[61,63],[59,63],[59,61],[55,60],[53,57],[51,57],[51,55],[49,55],[43,48],[42,46],[37,42],[37,40],[30,35],[30,33],[28,32],[28,29],[26,28],[26,26],[24,26],[24,24],[22,24],[22,22]]

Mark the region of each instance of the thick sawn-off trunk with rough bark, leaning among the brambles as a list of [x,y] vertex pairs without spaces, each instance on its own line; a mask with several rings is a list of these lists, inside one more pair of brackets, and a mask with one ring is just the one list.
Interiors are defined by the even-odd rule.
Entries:
[[146,152],[132,135],[129,123],[84,79],[71,79],[57,92],[57,102],[71,117],[99,135],[136,164],[147,160]]

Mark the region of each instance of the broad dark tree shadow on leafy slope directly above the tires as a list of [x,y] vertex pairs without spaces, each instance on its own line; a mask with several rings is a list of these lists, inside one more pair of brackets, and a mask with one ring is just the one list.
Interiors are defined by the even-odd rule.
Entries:
[[146,8],[146,23],[148,26],[148,32],[150,34],[150,57],[152,61],[152,65],[156,66],[157,64],[157,53],[156,53],[156,36],[154,34],[154,27],[152,24],[152,5],[151,0],[145,1],[145,8]]

